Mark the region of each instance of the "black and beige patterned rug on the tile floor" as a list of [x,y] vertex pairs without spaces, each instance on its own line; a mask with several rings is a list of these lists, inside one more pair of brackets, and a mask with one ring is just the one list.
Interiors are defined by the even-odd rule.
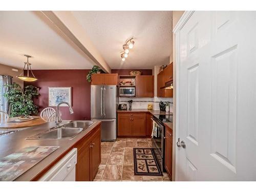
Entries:
[[162,176],[152,148],[133,148],[134,175]]

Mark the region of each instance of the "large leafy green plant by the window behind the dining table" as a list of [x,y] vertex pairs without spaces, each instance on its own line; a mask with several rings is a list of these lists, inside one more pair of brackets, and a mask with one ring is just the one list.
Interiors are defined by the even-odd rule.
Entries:
[[33,99],[39,95],[39,88],[26,86],[23,90],[15,82],[6,87],[10,88],[4,93],[4,97],[10,103],[10,117],[37,115],[38,107],[34,104]]

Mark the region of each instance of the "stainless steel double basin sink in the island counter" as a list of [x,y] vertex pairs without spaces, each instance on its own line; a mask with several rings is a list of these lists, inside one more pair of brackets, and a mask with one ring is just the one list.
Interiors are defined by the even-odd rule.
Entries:
[[52,127],[45,132],[28,137],[27,139],[73,139],[93,123],[95,121],[72,121],[60,127]]

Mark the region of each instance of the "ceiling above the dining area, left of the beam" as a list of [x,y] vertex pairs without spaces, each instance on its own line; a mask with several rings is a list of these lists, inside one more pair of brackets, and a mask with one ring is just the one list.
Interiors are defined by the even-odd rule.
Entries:
[[40,12],[0,11],[0,63],[32,69],[90,69],[92,63]]

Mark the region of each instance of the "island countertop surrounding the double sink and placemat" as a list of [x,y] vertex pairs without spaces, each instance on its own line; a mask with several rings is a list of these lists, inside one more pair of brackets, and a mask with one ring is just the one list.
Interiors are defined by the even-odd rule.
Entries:
[[[68,123],[70,121],[62,121],[62,123]],[[53,163],[60,157],[63,153],[68,152],[74,144],[76,144],[83,137],[91,133],[91,131],[100,124],[101,121],[96,121],[88,129],[79,133],[75,138],[68,139],[48,139],[48,140],[26,140],[27,137],[36,135],[38,133],[44,132],[51,127],[55,126],[55,122],[46,122],[44,124],[29,127],[26,130],[18,131],[10,135],[1,136],[0,138],[0,159],[10,155],[14,152],[21,150],[28,146],[60,146],[55,152],[47,156],[45,159],[41,160],[35,166],[31,167],[23,175],[19,176],[15,181],[31,181],[38,174],[40,174],[46,167]]]

